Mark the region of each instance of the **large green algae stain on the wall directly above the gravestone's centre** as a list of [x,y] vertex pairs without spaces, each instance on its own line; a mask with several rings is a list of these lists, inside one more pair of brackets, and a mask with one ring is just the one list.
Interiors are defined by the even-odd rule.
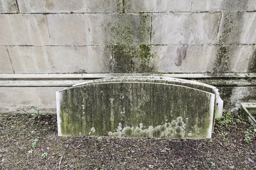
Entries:
[[[116,22],[109,22],[109,70],[113,73],[153,72],[149,14],[118,14]],[[137,44],[140,45],[137,45]]]

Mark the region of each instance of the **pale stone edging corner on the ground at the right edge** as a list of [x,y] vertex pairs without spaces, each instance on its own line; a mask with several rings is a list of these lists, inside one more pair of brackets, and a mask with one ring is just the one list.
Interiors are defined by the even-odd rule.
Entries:
[[256,129],[256,102],[241,103],[239,113]]

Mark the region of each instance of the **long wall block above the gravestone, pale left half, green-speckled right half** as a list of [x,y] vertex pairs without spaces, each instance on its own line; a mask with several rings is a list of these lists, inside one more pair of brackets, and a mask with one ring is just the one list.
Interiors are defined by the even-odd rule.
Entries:
[[151,14],[48,14],[52,45],[150,44]]

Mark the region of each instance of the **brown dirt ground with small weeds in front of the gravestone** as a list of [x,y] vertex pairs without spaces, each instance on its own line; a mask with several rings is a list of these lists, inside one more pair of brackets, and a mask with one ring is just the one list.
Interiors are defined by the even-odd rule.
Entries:
[[237,114],[200,140],[58,137],[55,115],[32,118],[0,116],[0,170],[256,169],[256,132]]

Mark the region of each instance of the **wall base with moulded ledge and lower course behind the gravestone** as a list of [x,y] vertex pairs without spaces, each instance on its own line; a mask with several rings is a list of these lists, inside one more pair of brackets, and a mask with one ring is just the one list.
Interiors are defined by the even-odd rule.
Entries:
[[92,79],[152,75],[190,79],[219,89],[224,111],[256,101],[256,74],[0,74],[0,113],[56,113],[55,92]]

